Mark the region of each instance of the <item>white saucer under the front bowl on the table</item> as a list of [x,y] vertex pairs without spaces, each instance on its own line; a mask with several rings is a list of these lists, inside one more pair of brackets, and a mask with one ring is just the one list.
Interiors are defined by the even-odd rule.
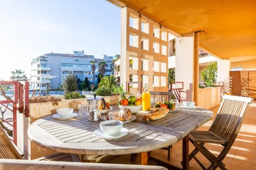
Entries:
[[121,131],[115,135],[108,135],[108,134],[104,133],[100,128],[98,128],[97,130],[95,130],[93,132],[93,134],[96,137],[99,137],[102,139],[117,139],[119,137],[123,137],[123,136],[127,135],[127,133],[128,133],[128,129],[126,129],[126,128],[122,128]]

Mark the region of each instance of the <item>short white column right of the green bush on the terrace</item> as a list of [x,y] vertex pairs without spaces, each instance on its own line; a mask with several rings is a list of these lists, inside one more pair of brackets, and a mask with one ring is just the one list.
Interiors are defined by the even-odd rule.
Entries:
[[223,82],[229,77],[230,62],[229,60],[218,60],[218,77],[217,82]]

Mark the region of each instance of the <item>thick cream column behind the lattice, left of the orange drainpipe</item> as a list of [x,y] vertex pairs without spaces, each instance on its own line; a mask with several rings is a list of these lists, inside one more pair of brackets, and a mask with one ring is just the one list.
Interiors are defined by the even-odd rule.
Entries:
[[193,101],[194,89],[194,41],[195,34],[188,33],[176,38],[175,81],[184,82],[182,101]]

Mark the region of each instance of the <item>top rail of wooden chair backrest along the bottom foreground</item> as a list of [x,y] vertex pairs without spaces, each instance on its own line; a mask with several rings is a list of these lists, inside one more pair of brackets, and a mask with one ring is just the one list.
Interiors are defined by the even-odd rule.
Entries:
[[29,160],[8,160],[0,159],[0,170],[4,169],[36,169],[36,170],[132,170],[132,169],[147,169],[147,170],[167,170],[162,166],[148,165],[127,165],[127,164],[106,164],[106,163],[78,163],[78,162],[57,162],[57,161],[29,161]]

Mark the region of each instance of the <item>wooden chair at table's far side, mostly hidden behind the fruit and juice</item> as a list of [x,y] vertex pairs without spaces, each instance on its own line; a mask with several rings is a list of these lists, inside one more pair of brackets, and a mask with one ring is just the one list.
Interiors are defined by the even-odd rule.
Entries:
[[[154,102],[163,102],[163,101],[170,101],[172,97],[174,97],[173,92],[166,92],[166,91],[150,91],[151,96],[154,99]],[[175,99],[175,98],[174,98]],[[168,155],[167,155],[167,160],[170,160],[170,149],[172,148],[172,145],[162,148],[162,150],[167,150]]]

